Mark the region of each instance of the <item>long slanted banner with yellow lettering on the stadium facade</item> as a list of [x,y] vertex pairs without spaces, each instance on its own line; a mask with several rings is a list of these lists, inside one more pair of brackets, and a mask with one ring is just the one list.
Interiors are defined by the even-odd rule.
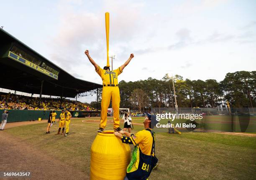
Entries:
[[29,60],[24,59],[23,57],[20,57],[19,55],[16,55],[15,53],[9,51],[8,57],[12,58],[13,60],[16,60],[28,67],[33,68],[34,70],[37,70],[45,75],[48,75],[56,80],[58,80],[58,75],[55,75],[52,72],[49,72],[48,70],[45,70],[44,68],[34,64],[33,62],[30,62]]

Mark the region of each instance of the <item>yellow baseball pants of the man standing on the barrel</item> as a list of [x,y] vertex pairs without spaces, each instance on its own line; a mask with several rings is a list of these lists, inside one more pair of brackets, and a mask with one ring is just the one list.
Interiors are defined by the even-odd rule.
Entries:
[[114,110],[114,129],[120,127],[119,105],[120,92],[118,86],[103,86],[100,113],[100,128],[105,128],[107,125],[108,107],[110,99],[112,100],[112,108]]

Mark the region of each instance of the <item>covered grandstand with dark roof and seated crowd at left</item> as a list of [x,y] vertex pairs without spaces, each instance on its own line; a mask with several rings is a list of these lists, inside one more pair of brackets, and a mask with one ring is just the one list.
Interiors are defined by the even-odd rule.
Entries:
[[[0,109],[97,111],[64,97],[98,94],[102,85],[77,79],[3,29],[0,39],[0,88],[15,91],[0,94]],[[17,95],[16,91],[30,93],[31,97]],[[33,97],[35,94],[39,97]]]

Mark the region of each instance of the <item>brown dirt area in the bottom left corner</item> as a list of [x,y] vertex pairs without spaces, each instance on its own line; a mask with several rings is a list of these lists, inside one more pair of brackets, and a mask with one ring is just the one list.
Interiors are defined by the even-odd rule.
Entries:
[[[33,180],[89,180],[89,175],[70,167],[28,143],[0,132],[1,172],[30,172],[28,178],[0,179],[33,179]],[[53,178],[55,177],[55,178]]]

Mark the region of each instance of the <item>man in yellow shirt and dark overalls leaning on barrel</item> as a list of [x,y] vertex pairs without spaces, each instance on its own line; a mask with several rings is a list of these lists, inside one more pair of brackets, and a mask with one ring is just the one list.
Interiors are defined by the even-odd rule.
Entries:
[[157,166],[158,159],[155,157],[155,133],[151,128],[150,114],[147,113],[143,124],[145,129],[135,135],[126,131],[114,133],[115,136],[122,140],[122,143],[133,144],[135,146],[132,160],[127,167],[124,180],[147,180],[151,171]]

